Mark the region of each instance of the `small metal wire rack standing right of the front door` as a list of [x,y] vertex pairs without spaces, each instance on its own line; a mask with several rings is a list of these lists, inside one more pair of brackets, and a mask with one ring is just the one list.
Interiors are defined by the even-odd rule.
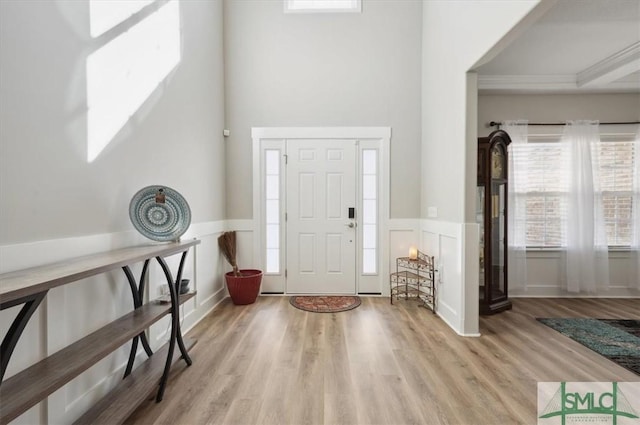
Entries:
[[416,259],[396,258],[396,271],[389,279],[391,304],[393,299],[415,298],[421,306],[436,312],[435,261],[433,256],[418,251]]

